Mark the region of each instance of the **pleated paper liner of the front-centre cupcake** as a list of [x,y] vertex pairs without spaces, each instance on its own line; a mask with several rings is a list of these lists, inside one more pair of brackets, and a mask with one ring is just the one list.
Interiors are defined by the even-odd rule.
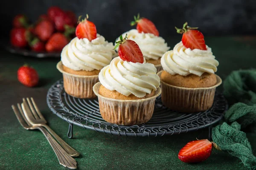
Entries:
[[157,88],[155,95],[139,100],[111,99],[100,95],[98,82],[93,86],[94,93],[99,99],[99,111],[102,118],[116,125],[139,125],[148,122],[154,112],[154,103],[161,89]]

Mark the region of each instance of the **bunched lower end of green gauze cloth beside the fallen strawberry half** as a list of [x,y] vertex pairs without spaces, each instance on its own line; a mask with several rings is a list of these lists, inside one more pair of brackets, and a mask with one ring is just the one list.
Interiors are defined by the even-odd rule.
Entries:
[[212,140],[230,155],[238,157],[248,169],[256,169],[256,157],[253,155],[246,134],[240,131],[240,124],[224,122],[212,129]]

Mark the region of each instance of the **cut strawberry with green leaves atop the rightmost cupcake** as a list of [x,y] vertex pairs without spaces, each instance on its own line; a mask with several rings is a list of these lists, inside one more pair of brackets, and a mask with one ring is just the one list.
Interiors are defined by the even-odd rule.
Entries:
[[198,27],[191,28],[188,26],[188,23],[186,22],[183,25],[182,29],[177,29],[177,33],[183,34],[182,35],[182,43],[186,48],[190,48],[191,50],[199,49],[199,50],[207,50],[205,41],[204,41],[204,35],[198,31]]

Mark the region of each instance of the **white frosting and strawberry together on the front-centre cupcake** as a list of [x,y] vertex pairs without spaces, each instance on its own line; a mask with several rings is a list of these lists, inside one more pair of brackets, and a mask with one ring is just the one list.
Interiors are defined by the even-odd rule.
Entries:
[[129,96],[144,97],[160,86],[157,69],[151,63],[146,63],[139,46],[127,36],[117,42],[119,57],[114,58],[110,65],[99,73],[101,84],[111,91]]

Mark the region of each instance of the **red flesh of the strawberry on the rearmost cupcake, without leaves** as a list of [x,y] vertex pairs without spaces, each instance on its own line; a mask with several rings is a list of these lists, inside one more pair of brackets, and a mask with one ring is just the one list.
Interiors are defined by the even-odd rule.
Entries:
[[140,21],[137,24],[136,29],[140,33],[141,32],[151,33],[151,34],[154,34],[155,36],[159,36],[159,32],[158,32],[156,26],[154,25],[154,23],[152,23],[151,20],[148,20],[146,18],[140,19]]

